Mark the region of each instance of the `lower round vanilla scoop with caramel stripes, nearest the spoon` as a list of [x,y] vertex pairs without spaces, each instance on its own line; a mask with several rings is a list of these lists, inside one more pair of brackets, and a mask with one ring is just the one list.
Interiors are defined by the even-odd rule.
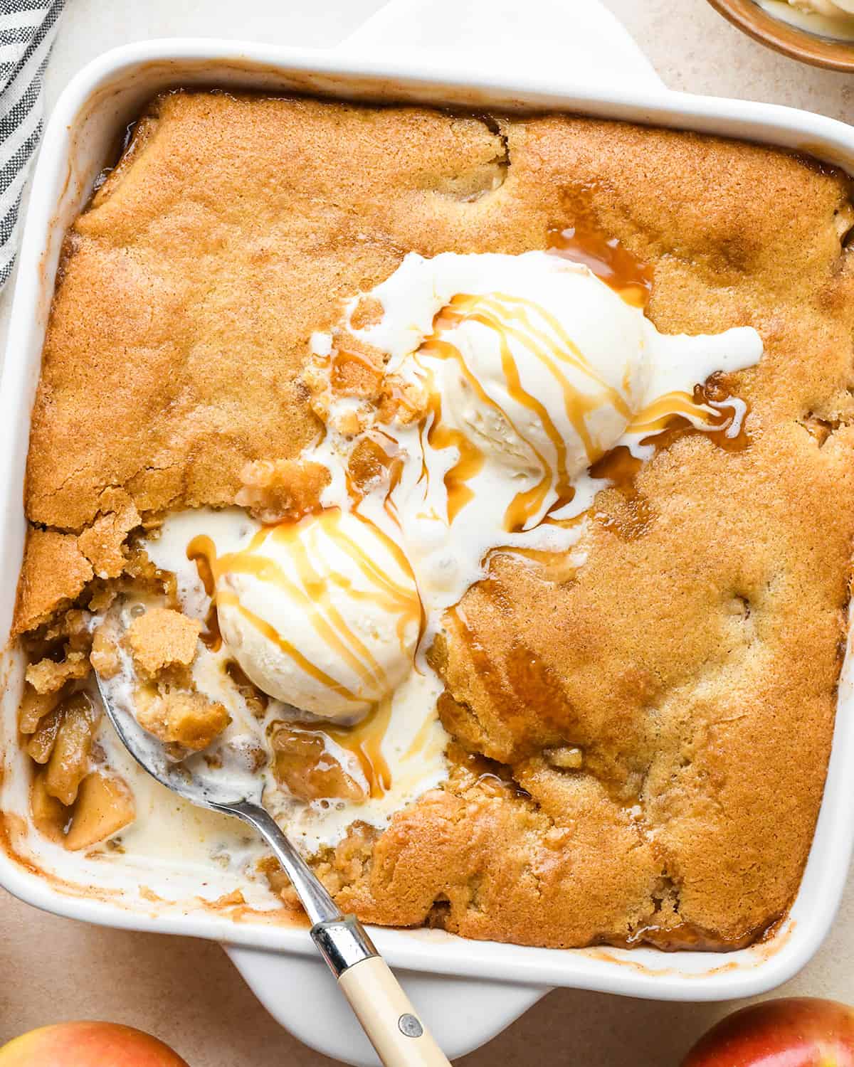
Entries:
[[315,715],[349,718],[412,666],[421,603],[391,539],[329,509],[266,527],[218,561],[223,639],[265,692]]

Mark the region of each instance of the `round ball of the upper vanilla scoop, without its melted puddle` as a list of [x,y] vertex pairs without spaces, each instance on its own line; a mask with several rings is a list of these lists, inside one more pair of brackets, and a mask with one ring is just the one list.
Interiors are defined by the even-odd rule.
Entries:
[[492,292],[457,296],[440,318],[437,334],[459,356],[428,344],[414,359],[433,370],[446,427],[507,466],[550,469],[568,485],[643,402],[643,316],[587,268],[555,256],[501,257],[493,271]]

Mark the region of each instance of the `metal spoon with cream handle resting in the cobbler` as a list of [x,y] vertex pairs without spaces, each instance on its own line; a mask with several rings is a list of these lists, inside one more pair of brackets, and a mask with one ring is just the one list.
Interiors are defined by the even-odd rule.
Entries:
[[312,922],[312,940],[385,1067],[450,1067],[362,924],[355,915],[342,914],[262,806],[263,786],[257,777],[248,775],[244,782],[230,790],[216,781],[203,759],[170,760],[162,745],[137,722],[132,711],[117,706],[108,684],[97,673],[95,679],[104,710],[141,767],[191,803],[249,823],[272,848]]

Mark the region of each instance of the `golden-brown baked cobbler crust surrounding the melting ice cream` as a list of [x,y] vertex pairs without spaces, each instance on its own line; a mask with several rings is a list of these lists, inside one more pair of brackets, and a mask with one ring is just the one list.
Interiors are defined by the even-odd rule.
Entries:
[[[68,239],[28,516],[82,531],[118,513],[115,487],[139,513],[233,503],[246,463],[318,430],[298,381],[311,333],[408,251],[520,253],[582,218],[619,238],[654,268],[660,330],[762,335],[731,383],[750,447],[674,441],[637,479],[649,521],[601,494],[562,584],[499,557],[433,652],[450,781],[319,870],[380,923],[741,944],[796,891],[831,744],[854,532],[849,194],[781,152],[618,123],[161,97]],[[88,577],[74,537],[32,532],[17,630]]]

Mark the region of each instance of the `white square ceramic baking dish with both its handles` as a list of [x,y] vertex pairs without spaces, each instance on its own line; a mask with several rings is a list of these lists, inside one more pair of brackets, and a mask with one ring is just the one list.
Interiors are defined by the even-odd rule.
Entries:
[[[582,9],[583,10],[580,10]],[[455,47],[434,49],[457,28]],[[484,37],[489,28],[492,46]],[[444,37],[443,37],[444,34]],[[412,47],[413,39],[420,47]],[[559,41],[553,48],[543,39]],[[509,44],[512,51],[509,52]],[[511,62],[510,62],[511,61]],[[854,129],[807,112],[664,89],[602,9],[536,0],[396,0],[335,51],[216,39],[159,41],[102,55],[68,85],[45,133],[26,219],[0,389],[0,643],[5,643],[23,544],[21,508],[29,417],[60,244],[86,202],[117,134],[159,90],[223,85],[311,92],[354,99],[410,100],[479,110],[550,109],[765,141],[808,150],[854,173]],[[854,691],[850,657],[839,686],[834,747],[809,862],[788,919],[763,944],[726,955],[653,949],[558,951],[465,941],[441,931],[378,929],[376,940],[437,1038],[458,1056],[493,1036],[551,986],[661,1000],[725,1000],[779,985],[815,953],[833,921],[854,844]],[[23,773],[15,742],[21,670],[14,650],[3,668],[0,805],[21,806]],[[37,907],[94,923],[227,942],[247,981],[283,1024],[329,1055],[375,1063],[303,928],[235,921],[206,907],[199,873],[146,871],[161,901],[121,889],[91,864],[100,898],[48,881],[0,851],[0,882]],[[216,874],[202,895],[228,886]],[[171,902],[171,903],[170,903]],[[441,976],[439,978],[438,976]],[[330,1020],[334,1024],[330,1024]]]

